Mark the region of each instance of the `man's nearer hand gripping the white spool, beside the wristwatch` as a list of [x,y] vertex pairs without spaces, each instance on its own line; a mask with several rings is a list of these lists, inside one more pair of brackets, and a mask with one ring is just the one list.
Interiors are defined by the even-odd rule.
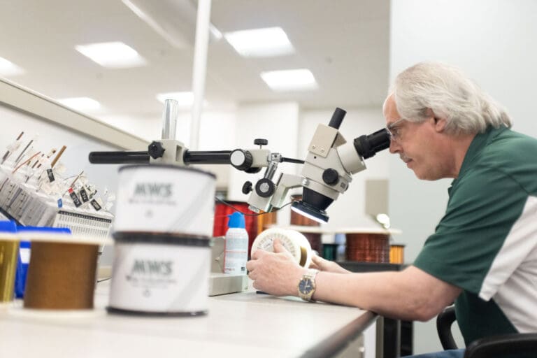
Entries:
[[297,285],[305,269],[296,263],[278,238],[274,240],[274,252],[256,250],[246,263],[248,277],[254,288],[275,296],[296,296]]

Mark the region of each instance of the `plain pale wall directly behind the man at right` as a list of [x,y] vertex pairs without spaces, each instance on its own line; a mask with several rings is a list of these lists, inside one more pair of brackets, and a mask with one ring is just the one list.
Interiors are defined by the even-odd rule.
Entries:
[[[537,82],[537,1],[392,1],[390,78],[423,60],[461,67],[508,108],[513,129],[537,136],[533,103]],[[418,182],[390,159],[389,208],[403,229],[407,262],[413,262],[447,202],[450,180]],[[415,352],[441,350],[434,322],[415,324]]]

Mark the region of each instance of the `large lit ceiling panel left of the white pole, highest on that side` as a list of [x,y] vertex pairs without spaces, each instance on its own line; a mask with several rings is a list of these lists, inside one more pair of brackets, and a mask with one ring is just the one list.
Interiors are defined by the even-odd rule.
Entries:
[[76,45],[75,49],[97,64],[110,69],[138,67],[147,64],[134,48],[119,41]]

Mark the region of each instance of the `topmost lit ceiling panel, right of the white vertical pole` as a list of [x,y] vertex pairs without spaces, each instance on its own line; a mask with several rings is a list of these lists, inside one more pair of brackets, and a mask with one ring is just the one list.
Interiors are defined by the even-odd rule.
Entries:
[[224,38],[243,57],[273,57],[294,52],[281,27],[227,32]]

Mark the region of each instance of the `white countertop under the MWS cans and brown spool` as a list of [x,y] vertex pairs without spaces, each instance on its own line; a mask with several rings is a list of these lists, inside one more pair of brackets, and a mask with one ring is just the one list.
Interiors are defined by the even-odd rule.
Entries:
[[97,284],[86,313],[0,306],[0,357],[327,357],[375,320],[358,308],[255,292],[210,297],[199,317],[108,314],[109,285]]

